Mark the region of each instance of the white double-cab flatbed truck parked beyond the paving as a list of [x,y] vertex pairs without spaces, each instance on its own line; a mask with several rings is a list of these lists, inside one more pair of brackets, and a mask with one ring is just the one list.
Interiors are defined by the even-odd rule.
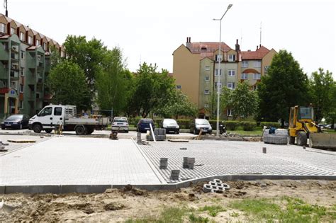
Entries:
[[77,118],[75,105],[47,105],[29,120],[29,129],[36,133],[42,130],[50,133],[55,128],[62,131],[75,131],[77,135],[90,135],[94,130],[108,126],[108,118]]

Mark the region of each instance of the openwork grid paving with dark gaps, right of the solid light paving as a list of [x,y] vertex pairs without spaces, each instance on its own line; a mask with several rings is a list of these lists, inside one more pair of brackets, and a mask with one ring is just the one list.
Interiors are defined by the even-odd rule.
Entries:
[[[181,150],[186,147],[186,150]],[[267,147],[267,154],[262,154]],[[302,147],[264,144],[262,142],[192,141],[157,142],[141,145],[168,183],[172,169],[179,169],[179,181],[207,176],[235,174],[335,176],[335,154],[311,152]],[[195,157],[194,170],[182,168],[183,157]],[[159,169],[159,159],[168,158],[168,168]]]

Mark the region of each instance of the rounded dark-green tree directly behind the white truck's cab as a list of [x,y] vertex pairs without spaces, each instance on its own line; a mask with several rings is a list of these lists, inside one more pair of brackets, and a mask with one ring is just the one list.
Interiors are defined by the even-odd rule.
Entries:
[[62,61],[47,77],[52,103],[77,105],[78,110],[90,108],[89,88],[83,70],[75,63]]

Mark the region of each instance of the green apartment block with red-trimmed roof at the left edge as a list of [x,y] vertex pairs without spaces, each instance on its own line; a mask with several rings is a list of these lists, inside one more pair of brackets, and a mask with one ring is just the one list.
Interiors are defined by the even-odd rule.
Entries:
[[65,56],[55,40],[0,13],[0,118],[35,115],[49,103],[45,80],[52,49]]

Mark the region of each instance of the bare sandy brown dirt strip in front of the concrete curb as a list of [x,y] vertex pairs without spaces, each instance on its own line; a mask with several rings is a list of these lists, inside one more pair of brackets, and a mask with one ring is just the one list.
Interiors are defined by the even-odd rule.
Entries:
[[[184,207],[199,210],[205,205],[220,205],[225,211],[212,222],[244,222],[245,215],[230,208],[233,200],[247,198],[301,198],[311,205],[332,207],[336,204],[336,181],[232,181],[224,193],[203,193],[203,183],[174,191],[111,189],[99,194],[9,194],[0,195],[4,207],[0,222],[125,222],[129,219],[155,219],[164,208]],[[233,215],[235,214],[235,215]],[[184,222],[189,222],[186,218]]]

